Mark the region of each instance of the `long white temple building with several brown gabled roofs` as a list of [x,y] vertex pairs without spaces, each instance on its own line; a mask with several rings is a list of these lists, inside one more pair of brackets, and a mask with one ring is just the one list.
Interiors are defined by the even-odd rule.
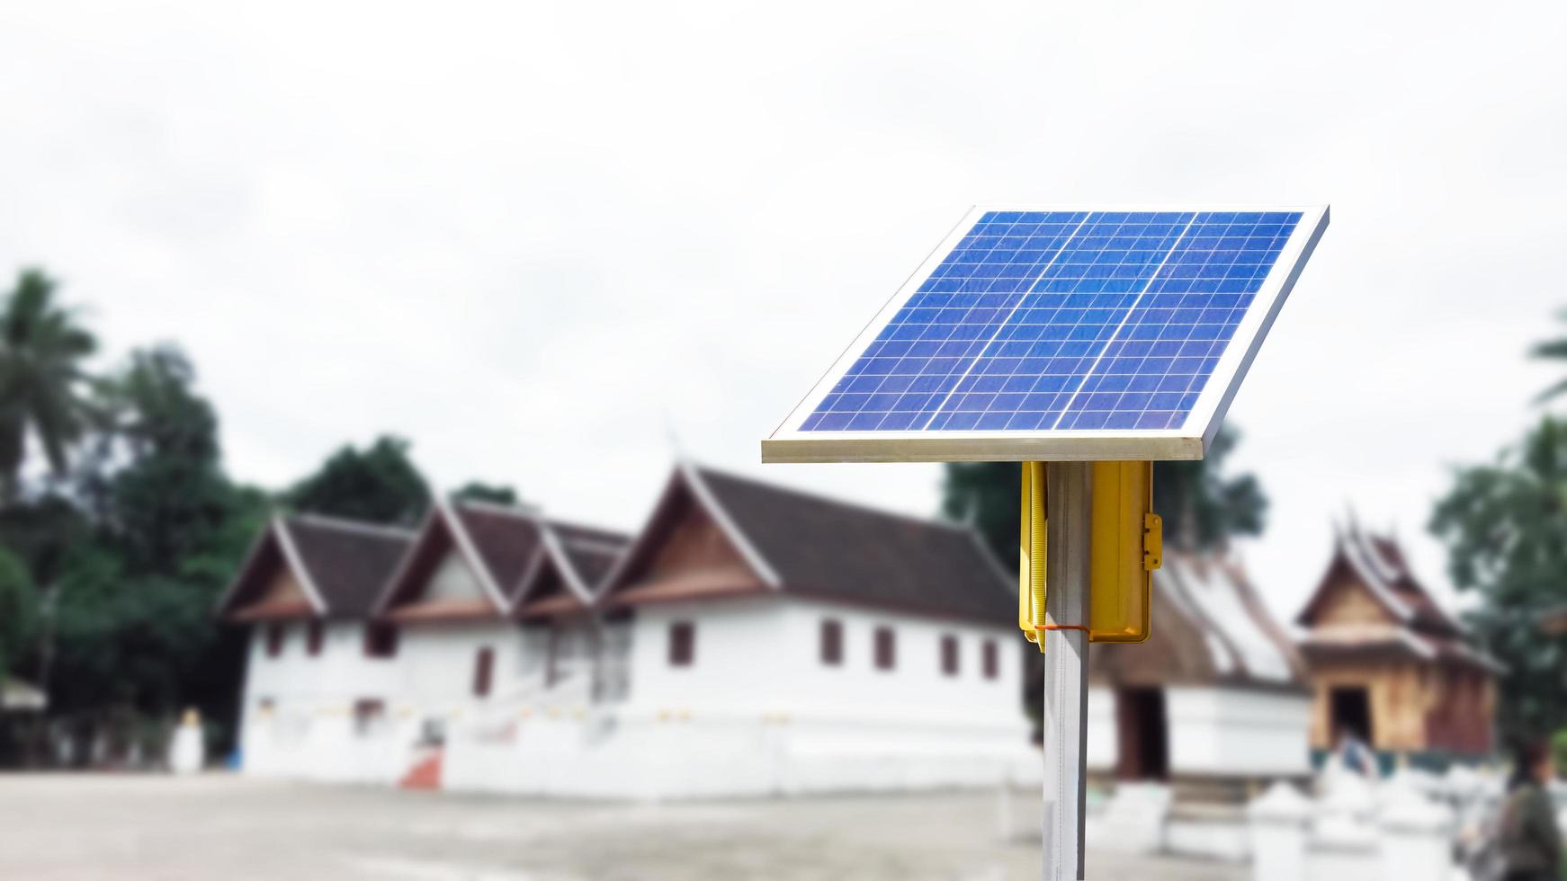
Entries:
[[680,465],[633,540],[282,516],[219,613],[246,773],[694,798],[1037,781],[1014,590],[968,527]]

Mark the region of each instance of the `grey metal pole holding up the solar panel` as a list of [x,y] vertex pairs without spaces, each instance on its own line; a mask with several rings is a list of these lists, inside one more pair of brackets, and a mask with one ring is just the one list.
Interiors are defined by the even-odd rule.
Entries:
[[[1094,465],[1048,465],[1045,621],[1087,624]],[[1045,881],[1083,878],[1086,798],[1087,632],[1044,631],[1045,640]]]

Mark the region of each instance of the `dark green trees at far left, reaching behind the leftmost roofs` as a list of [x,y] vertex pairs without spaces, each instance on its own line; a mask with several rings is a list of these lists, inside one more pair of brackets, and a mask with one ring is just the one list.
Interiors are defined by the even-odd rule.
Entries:
[[[412,524],[428,482],[389,435],[345,444],[280,493],[233,482],[191,360],[152,346],[89,371],[97,341],[56,293],[25,271],[0,302],[0,678],[44,687],[83,743],[107,735],[114,750],[194,706],[227,750],[244,632],[213,609],[270,513]],[[467,493],[516,499],[480,482]]]

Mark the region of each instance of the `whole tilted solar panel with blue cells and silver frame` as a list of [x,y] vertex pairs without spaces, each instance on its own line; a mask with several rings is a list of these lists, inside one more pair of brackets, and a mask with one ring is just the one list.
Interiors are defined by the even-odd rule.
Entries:
[[1327,208],[975,208],[768,462],[1199,458]]

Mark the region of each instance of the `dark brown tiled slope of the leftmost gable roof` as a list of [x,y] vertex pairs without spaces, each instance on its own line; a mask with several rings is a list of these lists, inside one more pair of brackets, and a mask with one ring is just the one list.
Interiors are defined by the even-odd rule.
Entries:
[[285,518],[288,535],[332,618],[364,618],[412,534],[315,515]]

